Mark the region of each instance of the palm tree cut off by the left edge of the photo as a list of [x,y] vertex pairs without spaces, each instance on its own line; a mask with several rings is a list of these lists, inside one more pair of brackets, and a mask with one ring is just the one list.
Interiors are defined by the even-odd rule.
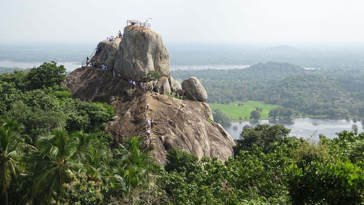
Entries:
[[25,138],[21,135],[24,127],[14,119],[1,119],[0,123],[0,189],[8,205],[7,190],[11,180],[24,171],[20,163],[23,150],[32,149],[32,146],[24,143]]

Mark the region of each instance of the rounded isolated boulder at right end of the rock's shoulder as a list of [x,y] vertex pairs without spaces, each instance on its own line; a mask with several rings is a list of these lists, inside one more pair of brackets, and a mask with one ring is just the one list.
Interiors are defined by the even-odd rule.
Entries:
[[205,102],[207,100],[207,92],[202,84],[195,77],[190,77],[182,82],[182,89],[185,90],[185,95],[190,99],[197,99]]

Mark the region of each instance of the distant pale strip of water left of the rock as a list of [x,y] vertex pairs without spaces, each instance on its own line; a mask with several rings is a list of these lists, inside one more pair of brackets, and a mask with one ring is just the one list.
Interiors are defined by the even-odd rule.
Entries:
[[[32,68],[38,67],[44,62],[13,62],[13,61],[1,61],[0,60],[0,67],[4,68]],[[67,71],[73,71],[76,68],[81,67],[79,62],[57,62],[57,65],[63,65]]]

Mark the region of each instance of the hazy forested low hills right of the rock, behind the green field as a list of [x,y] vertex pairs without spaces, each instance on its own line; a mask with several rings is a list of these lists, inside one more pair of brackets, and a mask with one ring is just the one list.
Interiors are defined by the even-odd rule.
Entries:
[[[364,71],[308,70],[289,63],[258,63],[229,70],[176,70],[183,80],[197,77],[208,103],[264,101],[304,115],[364,117]],[[175,72],[171,72],[177,78]],[[229,100],[228,100],[229,99]]]

